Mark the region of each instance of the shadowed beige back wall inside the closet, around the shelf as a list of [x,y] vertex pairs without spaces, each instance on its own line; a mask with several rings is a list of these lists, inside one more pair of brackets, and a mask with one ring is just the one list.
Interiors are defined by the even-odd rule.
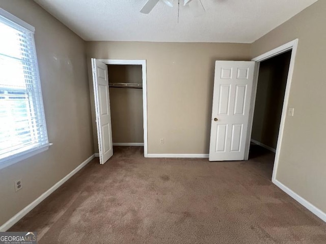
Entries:
[[[107,65],[110,83],[142,84],[141,65]],[[110,87],[113,143],[143,143],[143,89]]]

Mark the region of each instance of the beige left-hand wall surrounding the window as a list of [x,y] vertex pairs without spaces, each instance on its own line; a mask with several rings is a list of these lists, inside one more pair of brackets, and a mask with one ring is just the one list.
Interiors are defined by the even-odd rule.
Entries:
[[[35,26],[49,141],[44,153],[0,170],[0,226],[94,153],[85,42],[31,0],[0,8]],[[14,180],[23,188],[14,191]]]

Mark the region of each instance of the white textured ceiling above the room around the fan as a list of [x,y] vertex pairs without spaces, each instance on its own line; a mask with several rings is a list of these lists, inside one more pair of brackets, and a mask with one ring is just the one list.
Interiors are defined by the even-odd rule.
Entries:
[[[202,0],[206,12],[147,0],[34,0],[86,41],[252,43],[317,0]],[[177,2],[178,0],[175,0]],[[199,1],[199,0],[194,0]],[[322,0],[324,1],[324,0]]]

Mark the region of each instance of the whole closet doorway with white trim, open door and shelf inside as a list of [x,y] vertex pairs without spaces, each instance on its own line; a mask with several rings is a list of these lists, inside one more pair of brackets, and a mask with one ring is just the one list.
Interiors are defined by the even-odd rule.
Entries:
[[[113,155],[113,145],[144,145],[144,157],[147,157],[146,60],[92,58],[92,65],[100,164]],[[125,116],[126,112],[133,114]],[[110,121],[104,128],[102,117],[105,114]],[[139,120],[137,127],[132,124],[136,123],[135,117]],[[114,135],[112,129],[116,130]],[[133,133],[128,135],[128,131]],[[103,157],[105,151],[111,149],[111,156]]]

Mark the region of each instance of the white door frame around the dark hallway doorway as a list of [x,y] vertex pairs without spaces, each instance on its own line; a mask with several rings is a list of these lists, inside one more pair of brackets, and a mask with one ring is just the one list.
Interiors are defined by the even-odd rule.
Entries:
[[248,124],[248,134],[247,134],[247,143],[246,143],[246,158],[245,160],[248,160],[249,158],[249,149],[250,149],[250,140],[251,140],[251,133],[253,128],[253,119],[254,119],[254,111],[255,111],[255,102],[256,102],[256,94],[257,94],[257,84],[258,84],[258,75],[259,75],[259,65],[260,62],[269,59],[271,57],[277,56],[281,53],[284,53],[286,51],[292,50],[291,53],[291,59],[290,59],[290,66],[289,66],[289,72],[288,77],[286,81],[286,87],[285,87],[285,94],[284,94],[284,101],[283,101],[283,108],[282,108],[282,115],[281,115],[281,123],[280,123],[280,130],[279,130],[279,136],[277,140],[277,146],[276,146],[276,155],[275,155],[275,161],[274,161],[274,167],[273,167],[273,175],[271,177],[271,181],[275,182],[276,180],[276,172],[279,164],[280,159],[280,151],[282,146],[282,139],[283,139],[283,132],[284,132],[284,125],[285,125],[285,118],[287,114],[287,107],[289,103],[289,96],[290,96],[290,88],[291,88],[291,82],[292,82],[292,76],[293,76],[293,70],[294,70],[294,62],[295,62],[295,55],[297,50],[297,44],[298,39],[295,39],[291,42],[288,42],[282,46],[279,46],[273,50],[270,50],[268,52],[265,52],[264,54],[261,54],[253,59],[252,61],[256,62],[255,67],[255,76],[254,76],[254,82],[253,82],[253,91],[251,95],[251,103],[250,103],[250,112],[249,112],[249,124]]

